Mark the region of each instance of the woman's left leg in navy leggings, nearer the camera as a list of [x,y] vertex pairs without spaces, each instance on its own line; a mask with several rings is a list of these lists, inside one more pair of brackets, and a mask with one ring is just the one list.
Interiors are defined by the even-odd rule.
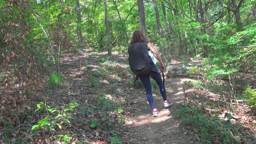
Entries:
[[147,100],[148,100],[152,110],[153,110],[156,108],[156,106],[154,103],[154,98],[152,96],[152,87],[151,87],[149,76],[148,75],[140,75],[139,78],[140,78],[144,88],[146,89],[146,97],[147,97]]

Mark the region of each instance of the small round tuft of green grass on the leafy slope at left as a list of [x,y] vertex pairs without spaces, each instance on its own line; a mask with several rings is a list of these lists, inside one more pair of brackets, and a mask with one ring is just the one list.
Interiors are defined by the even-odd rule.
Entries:
[[56,73],[50,74],[49,86],[50,89],[61,88],[63,86],[64,79],[62,75],[57,75]]

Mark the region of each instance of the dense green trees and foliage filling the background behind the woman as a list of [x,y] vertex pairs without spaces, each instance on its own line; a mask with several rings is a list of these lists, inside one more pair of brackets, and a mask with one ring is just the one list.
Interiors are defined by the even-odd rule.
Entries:
[[255,0],[1,0],[1,102],[44,89],[49,77],[63,72],[64,56],[77,56],[81,67],[86,53],[127,55],[135,30],[166,65],[202,58],[191,72],[200,72],[202,82],[228,80],[231,100],[238,72],[256,72]]

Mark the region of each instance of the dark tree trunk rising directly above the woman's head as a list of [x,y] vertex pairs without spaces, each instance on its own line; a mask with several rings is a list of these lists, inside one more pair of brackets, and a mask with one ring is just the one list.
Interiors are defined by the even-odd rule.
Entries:
[[138,3],[138,10],[140,16],[140,31],[146,37],[146,20],[145,20],[145,11],[144,11],[144,3],[143,0],[137,0]]

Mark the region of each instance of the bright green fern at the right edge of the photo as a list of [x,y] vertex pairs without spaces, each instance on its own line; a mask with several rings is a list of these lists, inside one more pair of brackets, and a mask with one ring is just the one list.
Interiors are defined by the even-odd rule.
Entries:
[[246,100],[246,104],[250,108],[252,108],[254,115],[256,115],[256,89],[252,89],[251,87],[247,87],[243,92],[244,100]]

